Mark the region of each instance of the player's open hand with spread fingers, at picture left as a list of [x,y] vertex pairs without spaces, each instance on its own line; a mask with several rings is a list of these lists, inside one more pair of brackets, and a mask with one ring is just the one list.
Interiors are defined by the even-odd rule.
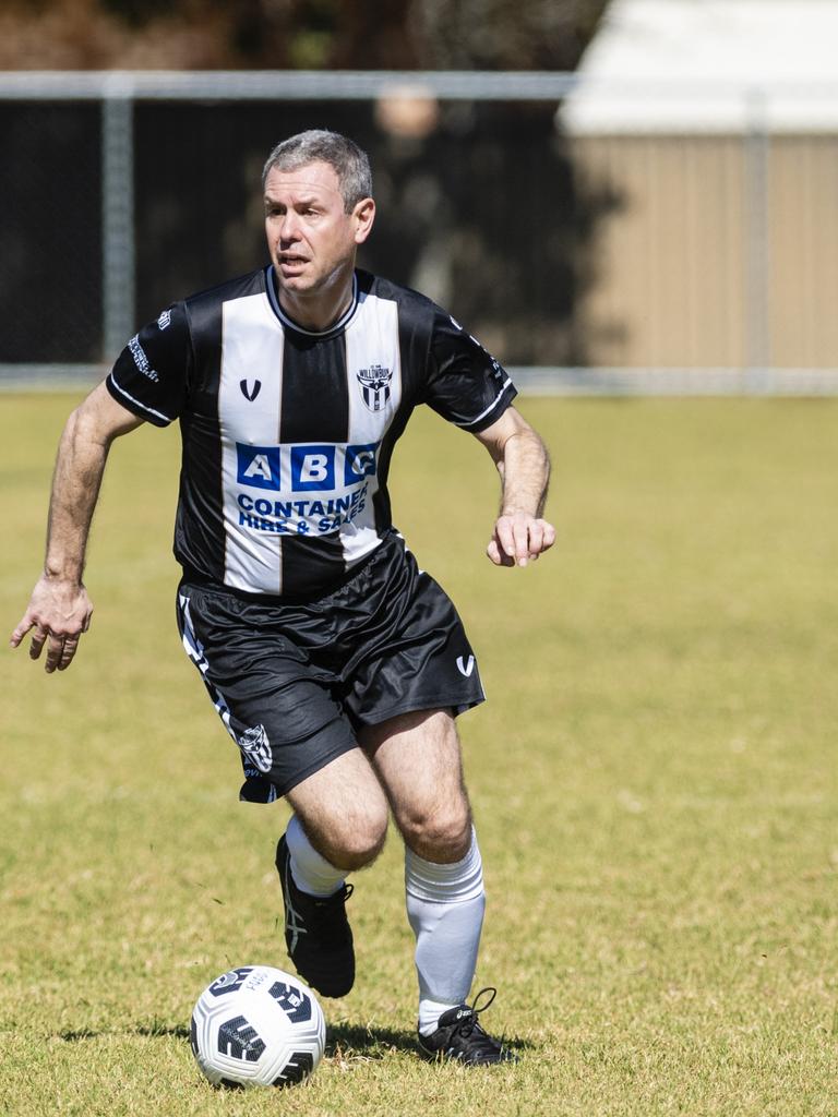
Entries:
[[32,632],[30,659],[38,659],[47,645],[46,670],[66,670],[73,662],[82,633],[91,627],[93,605],[87,590],[78,582],[67,582],[42,574],[38,580],[29,607],[9,641],[19,647],[27,632]]

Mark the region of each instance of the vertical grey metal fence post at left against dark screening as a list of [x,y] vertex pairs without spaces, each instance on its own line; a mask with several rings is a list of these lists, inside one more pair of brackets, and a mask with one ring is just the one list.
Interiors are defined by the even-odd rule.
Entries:
[[134,332],[134,99],[114,74],[102,98],[102,349],[111,362]]

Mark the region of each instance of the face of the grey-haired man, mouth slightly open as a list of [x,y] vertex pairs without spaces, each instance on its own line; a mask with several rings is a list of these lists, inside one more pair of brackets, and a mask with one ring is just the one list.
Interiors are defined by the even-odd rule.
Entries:
[[371,198],[345,212],[328,163],[294,171],[272,168],[265,183],[265,233],[280,290],[294,300],[327,294],[345,281],[374,212]]

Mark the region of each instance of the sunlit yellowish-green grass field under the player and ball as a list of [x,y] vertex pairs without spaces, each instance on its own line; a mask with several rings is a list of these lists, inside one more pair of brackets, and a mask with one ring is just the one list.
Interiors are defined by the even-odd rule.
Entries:
[[[41,561],[69,397],[2,397],[6,631]],[[419,414],[398,523],[460,607],[489,703],[461,720],[489,907],[475,989],[515,1068],[413,1050],[391,840],[355,879],[359,981],[291,1091],[200,1079],[187,1028],[231,965],[283,966],[284,805],[182,653],[177,432],[116,445],[77,662],[0,657],[0,1114],[838,1113],[838,403],[535,401],[554,552],[483,557],[484,451]],[[485,460],[484,460],[485,459]]]

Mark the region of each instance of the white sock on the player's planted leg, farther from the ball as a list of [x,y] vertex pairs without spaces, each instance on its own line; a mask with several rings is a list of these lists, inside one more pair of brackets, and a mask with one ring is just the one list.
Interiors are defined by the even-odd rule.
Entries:
[[404,848],[408,919],[416,935],[419,1031],[430,1034],[440,1015],[463,1004],[472,987],[486,894],[477,837],[461,861],[435,865]]

